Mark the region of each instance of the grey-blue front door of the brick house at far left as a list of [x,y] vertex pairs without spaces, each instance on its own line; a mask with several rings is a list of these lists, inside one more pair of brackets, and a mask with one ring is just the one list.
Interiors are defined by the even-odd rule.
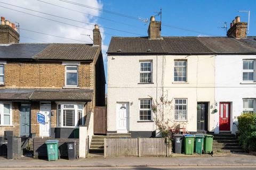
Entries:
[[28,136],[30,134],[30,105],[21,105],[20,107],[20,135]]

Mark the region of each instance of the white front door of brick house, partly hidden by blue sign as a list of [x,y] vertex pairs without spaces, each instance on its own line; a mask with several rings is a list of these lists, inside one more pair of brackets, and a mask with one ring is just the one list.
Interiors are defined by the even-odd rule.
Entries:
[[41,102],[40,113],[44,114],[45,124],[40,124],[40,136],[50,137],[51,136],[51,103]]

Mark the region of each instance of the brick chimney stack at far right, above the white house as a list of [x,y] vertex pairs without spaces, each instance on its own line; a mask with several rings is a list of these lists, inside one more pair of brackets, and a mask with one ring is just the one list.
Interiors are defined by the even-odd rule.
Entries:
[[247,38],[247,22],[241,22],[240,16],[236,16],[235,20],[230,23],[230,28],[227,32],[228,37],[233,38]]

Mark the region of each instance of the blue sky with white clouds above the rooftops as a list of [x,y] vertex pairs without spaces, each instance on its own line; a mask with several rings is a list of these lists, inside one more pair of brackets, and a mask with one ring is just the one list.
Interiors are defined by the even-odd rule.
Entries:
[[[129,17],[93,10],[92,8],[74,5],[64,1],[89,5],[100,8],[101,10],[129,15]],[[54,5],[62,6],[62,8]],[[30,10],[20,7],[25,7]],[[230,22],[237,15],[241,16],[241,21],[247,22],[248,20],[248,14],[238,13],[238,10],[251,11],[249,36],[256,36],[256,0],[0,0],[1,16],[5,16],[5,19],[10,20],[11,22],[20,23],[21,43],[92,43],[90,37],[85,35],[90,35],[92,37],[93,25],[95,23],[99,24],[103,38],[102,53],[104,55],[106,78],[106,52],[111,35],[121,37],[147,36],[148,24],[139,21],[138,18],[147,18],[149,20],[150,16],[156,15],[155,12],[159,12],[161,7],[162,36],[226,36],[225,29],[219,28],[223,27],[223,22],[226,21],[229,28]],[[10,10],[10,8],[26,12],[27,14]],[[67,8],[71,10],[68,10]],[[31,11],[31,9],[44,12],[46,14]],[[60,21],[62,23],[38,18],[31,14],[43,16],[44,18]],[[53,15],[71,20],[59,18]],[[160,20],[159,16],[156,16],[156,20]],[[73,27],[70,24],[78,25],[78,27]],[[170,25],[170,27],[166,27],[164,25]],[[41,32],[41,34],[36,33],[35,31]],[[47,33],[48,35],[42,33]],[[49,34],[75,40],[49,36]]]

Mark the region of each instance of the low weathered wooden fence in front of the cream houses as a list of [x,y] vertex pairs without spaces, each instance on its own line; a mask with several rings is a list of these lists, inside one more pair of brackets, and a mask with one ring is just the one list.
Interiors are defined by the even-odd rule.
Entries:
[[170,150],[164,138],[105,138],[104,140],[104,157],[169,156]]

